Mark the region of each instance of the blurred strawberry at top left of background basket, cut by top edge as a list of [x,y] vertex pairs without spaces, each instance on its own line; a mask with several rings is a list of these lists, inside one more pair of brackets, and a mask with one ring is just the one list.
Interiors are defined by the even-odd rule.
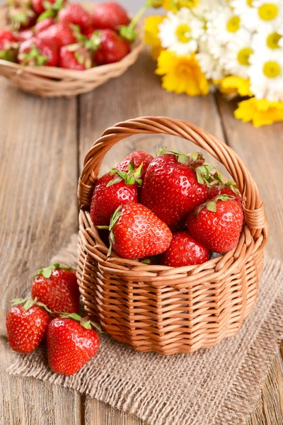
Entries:
[[8,1],[8,20],[14,30],[30,28],[35,24],[36,14],[30,6],[30,1],[9,0]]

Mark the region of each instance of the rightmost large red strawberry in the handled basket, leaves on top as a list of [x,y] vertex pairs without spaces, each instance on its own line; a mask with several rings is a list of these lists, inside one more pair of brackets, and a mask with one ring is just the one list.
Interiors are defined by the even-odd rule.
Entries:
[[237,246],[242,227],[243,209],[227,195],[216,196],[200,205],[187,218],[192,237],[219,254]]

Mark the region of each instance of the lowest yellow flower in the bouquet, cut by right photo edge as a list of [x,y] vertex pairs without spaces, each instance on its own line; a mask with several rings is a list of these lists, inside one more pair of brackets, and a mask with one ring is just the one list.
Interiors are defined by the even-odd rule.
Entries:
[[243,123],[252,121],[255,127],[283,121],[283,102],[269,102],[266,99],[250,98],[238,103],[234,112]]

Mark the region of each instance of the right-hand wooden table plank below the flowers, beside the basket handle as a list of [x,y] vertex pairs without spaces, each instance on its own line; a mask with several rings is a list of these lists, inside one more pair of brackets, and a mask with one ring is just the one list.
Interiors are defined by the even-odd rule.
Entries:
[[283,260],[283,191],[280,188],[283,170],[283,123],[254,128],[233,117],[236,102],[227,102],[217,95],[226,139],[246,162],[260,189],[270,226],[266,252]]

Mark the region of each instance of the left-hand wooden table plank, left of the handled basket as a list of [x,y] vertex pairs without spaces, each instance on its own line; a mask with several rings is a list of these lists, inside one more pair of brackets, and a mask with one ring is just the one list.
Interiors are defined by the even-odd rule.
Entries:
[[[1,323],[77,229],[76,99],[26,95],[0,81]],[[1,336],[1,425],[81,424],[79,394],[4,371],[13,353]]]

